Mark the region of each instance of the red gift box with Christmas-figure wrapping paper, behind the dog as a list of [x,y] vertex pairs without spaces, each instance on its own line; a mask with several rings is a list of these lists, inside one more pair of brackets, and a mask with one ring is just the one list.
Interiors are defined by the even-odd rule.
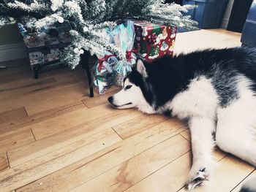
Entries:
[[136,21],[134,48],[149,62],[163,55],[173,55],[176,32],[176,27]]

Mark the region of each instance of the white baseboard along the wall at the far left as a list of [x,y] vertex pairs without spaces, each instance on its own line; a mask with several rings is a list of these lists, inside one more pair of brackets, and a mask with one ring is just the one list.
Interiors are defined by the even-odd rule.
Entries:
[[12,61],[26,57],[26,48],[23,43],[0,45],[0,62]]

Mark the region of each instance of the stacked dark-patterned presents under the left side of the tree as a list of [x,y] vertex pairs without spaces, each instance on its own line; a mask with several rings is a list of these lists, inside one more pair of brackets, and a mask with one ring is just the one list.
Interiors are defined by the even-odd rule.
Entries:
[[20,34],[29,56],[31,68],[34,70],[34,77],[38,77],[39,70],[52,69],[64,66],[59,56],[64,47],[71,42],[69,23],[57,23],[55,26],[45,26],[39,31],[18,23]]

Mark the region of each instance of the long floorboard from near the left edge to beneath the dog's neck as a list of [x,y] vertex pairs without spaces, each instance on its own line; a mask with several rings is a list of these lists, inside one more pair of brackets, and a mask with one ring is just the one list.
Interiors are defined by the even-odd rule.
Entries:
[[31,161],[32,159],[50,153],[53,150],[58,150],[59,148],[70,145],[83,137],[89,137],[92,134],[104,131],[106,128],[111,128],[118,123],[123,123],[124,121],[135,118],[138,115],[140,115],[140,112],[132,112],[127,115],[124,110],[115,110],[111,116],[105,115],[101,118],[91,120],[68,130],[58,132],[51,137],[40,139],[30,145],[7,151],[10,166],[15,167],[26,163],[26,161]]

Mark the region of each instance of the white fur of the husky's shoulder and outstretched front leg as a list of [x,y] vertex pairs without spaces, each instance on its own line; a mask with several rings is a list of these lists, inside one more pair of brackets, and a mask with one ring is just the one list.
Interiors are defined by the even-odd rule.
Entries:
[[196,186],[193,180],[198,177],[200,169],[205,168],[203,179],[208,180],[214,164],[211,150],[214,147],[212,134],[216,131],[218,96],[211,80],[200,76],[191,81],[187,91],[178,93],[167,105],[173,109],[173,115],[190,119],[193,163],[187,184],[192,189]]

